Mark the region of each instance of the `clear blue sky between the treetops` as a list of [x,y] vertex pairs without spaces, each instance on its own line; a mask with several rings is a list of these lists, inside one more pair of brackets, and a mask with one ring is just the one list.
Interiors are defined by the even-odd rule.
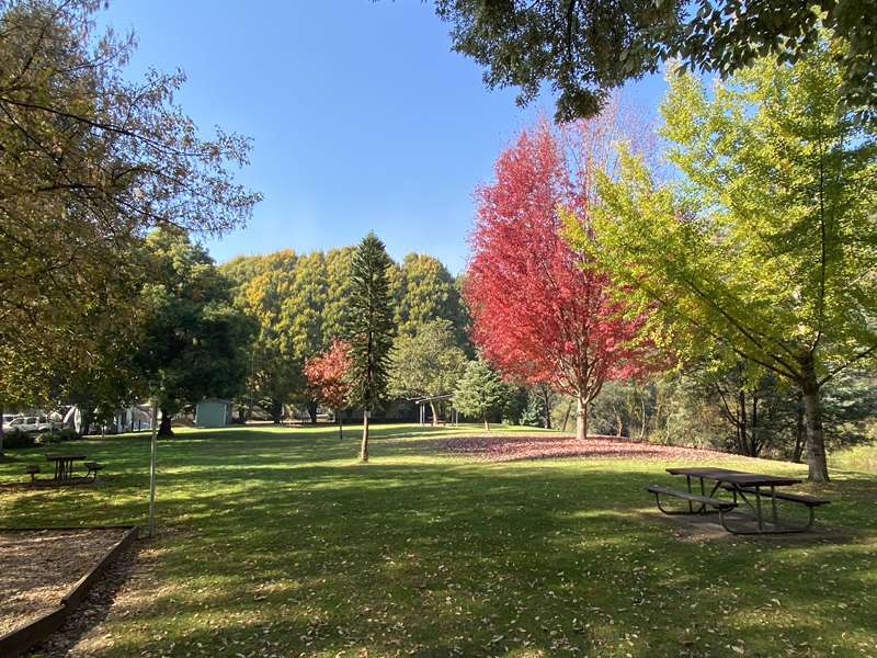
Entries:
[[[465,266],[472,192],[517,131],[553,113],[487,89],[418,0],[111,0],[100,22],[134,30],[129,75],[184,70],[178,100],[253,140],[240,175],[264,194],[243,229],[206,243],[218,261],[352,245],[369,229],[399,260]],[[663,82],[631,100],[653,109]]]

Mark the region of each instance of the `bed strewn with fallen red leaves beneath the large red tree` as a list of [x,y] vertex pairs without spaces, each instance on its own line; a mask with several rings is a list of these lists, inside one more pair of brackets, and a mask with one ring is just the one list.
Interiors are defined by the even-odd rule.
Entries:
[[619,436],[589,436],[581,441],[574,436],[476,434],[434,441],[433,445],[482,462],[557,457],[711,461],[725,456],[725,453],[711,450],[660,445]]

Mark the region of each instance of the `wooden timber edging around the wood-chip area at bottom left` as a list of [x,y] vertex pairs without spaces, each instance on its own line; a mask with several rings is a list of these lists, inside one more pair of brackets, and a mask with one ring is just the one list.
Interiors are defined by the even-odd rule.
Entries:
[[0,636],[0,656],[18,656],[32,646],[48,638],[73,613],[89,593],[98,578],[106,570],[118,555],[137,538],[136,525],[76,525],[64,527],[0,527],[0,532],[38,532],[53,530],[127,530],[122,538],[98,560],[91,570],[80,578],[64,597],[60,604],[36,617],[30,624],[13,628]]

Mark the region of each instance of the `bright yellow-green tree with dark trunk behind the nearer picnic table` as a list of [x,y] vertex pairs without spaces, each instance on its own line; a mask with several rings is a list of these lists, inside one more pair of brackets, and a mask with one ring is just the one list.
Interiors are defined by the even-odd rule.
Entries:
[[715,341],[799,388],[815,481],[820,389],[877,351],[877,148],[843,107],[836,47],[760,59],[711,93],[672,76],[661,114],[682,177],[661,184],[623,155],[597,247],[574,239],[690,352]]

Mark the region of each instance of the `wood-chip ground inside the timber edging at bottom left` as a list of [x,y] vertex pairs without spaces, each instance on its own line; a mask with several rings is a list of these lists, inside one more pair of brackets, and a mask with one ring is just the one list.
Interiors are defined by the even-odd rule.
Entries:
[[0,636],[57,608],[127,532],[0,530]]

